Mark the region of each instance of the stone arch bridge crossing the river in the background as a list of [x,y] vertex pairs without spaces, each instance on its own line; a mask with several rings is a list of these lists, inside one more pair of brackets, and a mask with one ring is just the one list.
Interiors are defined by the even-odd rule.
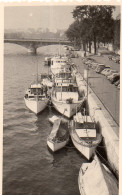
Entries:
[[21,45],[27,48],[29,53],[33,54],[36,53],[37,48],[46,45],[73,45],[73,43],[68,40],[60,39],[4,39],[4,43]]

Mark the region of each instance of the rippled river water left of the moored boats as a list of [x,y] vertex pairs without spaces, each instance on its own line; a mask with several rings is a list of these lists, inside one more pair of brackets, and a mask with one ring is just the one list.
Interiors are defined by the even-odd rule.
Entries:
[[[4,195],[79,195],[78,173],[86,159],[71,144],[51,153],[46,144],[52,126],[48,118],[58,114],[47,107],[36,116],[24,104],[25,89],[39,73],[47,54],[58,46],[39,48],[29,55],[24,47],[5,44],[3,193]],[[61,48],[63,52],[63,48]]]

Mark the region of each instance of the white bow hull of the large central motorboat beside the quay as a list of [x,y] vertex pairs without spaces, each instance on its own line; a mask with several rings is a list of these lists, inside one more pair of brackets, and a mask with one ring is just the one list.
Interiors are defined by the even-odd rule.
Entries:
[[63,114],[64,116],[71,118],[82,106],[83,100],[77,101],[76,103],[66,103],[65,101],[57,101],[55,98],[51,98],[54,108]]

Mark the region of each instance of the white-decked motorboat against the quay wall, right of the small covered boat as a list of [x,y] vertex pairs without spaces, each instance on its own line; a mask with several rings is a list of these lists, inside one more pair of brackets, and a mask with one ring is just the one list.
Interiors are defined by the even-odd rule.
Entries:
[[[86,120],[84,120],[86,118]],[[81,112],[73,117],[70,135],[74,146],[88,160],[95,153],[95,149],[102,140],[99,129],[90,116],[83,116]]]

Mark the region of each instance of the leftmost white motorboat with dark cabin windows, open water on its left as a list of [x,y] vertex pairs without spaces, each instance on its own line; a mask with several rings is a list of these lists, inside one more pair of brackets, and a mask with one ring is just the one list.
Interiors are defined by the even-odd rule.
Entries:
[[47,89],[41,83],[34,83],[26,91],[25,104],[35,114],[44,110],[48,103]]

